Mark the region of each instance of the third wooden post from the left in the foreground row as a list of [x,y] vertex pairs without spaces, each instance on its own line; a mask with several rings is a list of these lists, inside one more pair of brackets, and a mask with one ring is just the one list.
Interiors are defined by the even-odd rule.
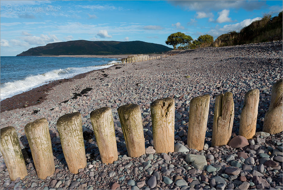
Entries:
[[68,113],[57,121],[62,150],[71,173],[87,165],[84,150],[83,128],[79,112]]

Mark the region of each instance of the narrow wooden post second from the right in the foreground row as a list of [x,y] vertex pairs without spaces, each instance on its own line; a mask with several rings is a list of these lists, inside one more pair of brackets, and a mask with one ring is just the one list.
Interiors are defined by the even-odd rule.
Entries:
[[244,97],[244,107],[240,117],[239,135],[251,139],[256,134],[256,119],[259,107],[259,90],[253,89]]

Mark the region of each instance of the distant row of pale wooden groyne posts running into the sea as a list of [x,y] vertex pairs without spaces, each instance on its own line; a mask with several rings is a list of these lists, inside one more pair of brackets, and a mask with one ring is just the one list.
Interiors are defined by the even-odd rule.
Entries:
[[[176,55],[174,54],[169,54],[169,55],[162,55],[162,58],[166,58],[169,56]],[[106,66],[106,65],[120,65],[120,64],[126,64],[126,63],[133,63],[133,62],[141,62],[141,61],[148,61],[148,60],[153,60],[153,59],[160,59],[161,56],[152,56],[149,57],[149,55],[143,55],[143,54],[138,54],[138,55],[129,55],[128,58],[123,58],[123,59],[116,59],[108,61],[108,64],[104,65],[95,65],[95,67],[100,67],[100,66]]]

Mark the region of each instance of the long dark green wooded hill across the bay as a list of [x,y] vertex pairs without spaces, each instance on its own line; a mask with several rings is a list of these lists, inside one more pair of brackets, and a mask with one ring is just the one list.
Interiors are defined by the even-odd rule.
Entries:
[[17,56],[31,55],[120,55],[148,54],[172,50],[164,45],[142,41],[87,41],[74,40],[68,42],[49,43],[20,53]]

